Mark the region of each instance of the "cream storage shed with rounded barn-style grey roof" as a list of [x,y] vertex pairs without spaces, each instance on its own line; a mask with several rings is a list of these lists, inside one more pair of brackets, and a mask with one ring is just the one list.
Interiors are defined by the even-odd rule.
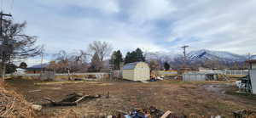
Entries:
[[147,63],[134,62],[123,67],[123,78],[131,81],[147,81],[150,78],[150,69]]

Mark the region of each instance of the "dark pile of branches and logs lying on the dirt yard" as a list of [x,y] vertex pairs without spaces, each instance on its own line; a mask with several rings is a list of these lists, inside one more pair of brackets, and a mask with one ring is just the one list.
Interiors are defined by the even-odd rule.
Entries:
[[101,95],[83,95],[81,93],[71,93],[63,98],[61,101],[55,101],[51,98],[44,98],[45,100],[49,101],[53,106],[72,106],[77,105],[79,102],[83,100],[89,100],[93,98],[101,98]]

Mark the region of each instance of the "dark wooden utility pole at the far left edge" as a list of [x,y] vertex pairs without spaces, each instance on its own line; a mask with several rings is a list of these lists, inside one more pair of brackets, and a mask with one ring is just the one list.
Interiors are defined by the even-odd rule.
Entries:
[[5,50],[5,40],[6,38],[3,38],[3,16],[7,16],[7,17],[12,17],[11,14],[3,14],[3,11],[0,12],[0,38],[2,40],[1,42],[1,54],[2,54],[2,65],[1,65],[1,68],[2,68],[2,81],[4,81],[4,76],[5,76],[5,69],[6,69],[6,65],[5,65],[5,61],[7,61],[5,58],[6,58],[6,53],[4,52]]

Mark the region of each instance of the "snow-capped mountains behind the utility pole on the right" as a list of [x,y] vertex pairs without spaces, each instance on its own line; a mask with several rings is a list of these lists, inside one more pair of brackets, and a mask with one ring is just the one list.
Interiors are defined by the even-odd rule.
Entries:
[[[159,59],[161,61],[172,61],[174,59],[182,59],[183,53],[146,53],[146,59]],[[191,51],[188,53],[188,61],[204,61],[204,60],[219,60],[219,61],[245,61],[247,59],[244,55],[230,53],[225,51],[211,51],[201,49]]]

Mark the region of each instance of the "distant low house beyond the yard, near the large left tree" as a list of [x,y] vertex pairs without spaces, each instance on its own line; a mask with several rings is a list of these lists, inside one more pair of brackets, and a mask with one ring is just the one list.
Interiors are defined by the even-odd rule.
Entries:
[[31,67],[26,68],[26,73],[28,74],[38,74],[41,73],[42,71],[46,70],[46,67],[48,64],[43,64],[43,65],[33,65]]

